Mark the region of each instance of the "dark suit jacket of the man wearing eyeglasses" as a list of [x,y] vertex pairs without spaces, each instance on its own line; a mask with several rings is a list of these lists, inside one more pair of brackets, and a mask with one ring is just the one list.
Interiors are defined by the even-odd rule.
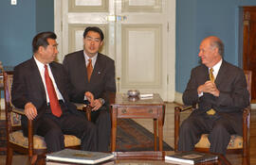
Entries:
[[[77,90],[91,91],[96,99],[103,98],[107,101],[107,92],[116,92],[115,62],[101,53],[98,53],[90,82],[87,78],[83,50],[66,55],[64,57],[64,68],[72,85]],[[73,101],[78,102],[78,100]]]

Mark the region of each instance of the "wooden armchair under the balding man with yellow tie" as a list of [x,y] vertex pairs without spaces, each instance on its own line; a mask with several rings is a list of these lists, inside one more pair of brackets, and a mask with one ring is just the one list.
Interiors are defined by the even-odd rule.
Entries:
[[[247,78],[247,90],[249,91],[249,99],[251,92],[251,71],[244,71]],[[180,125],[180,114],[187,110],[192,110],[196,105],[190,107],[174,107],[174,150],[177,151],[178,135]],[[249,124],[250,124],[250,107],[243,109],[243,137],[232,135],[229,141],[227,153],[242,153],[243,165],[249,164]],[[208,134],[203,134],[194,149],[199,152],[209,152],[210,142]]]

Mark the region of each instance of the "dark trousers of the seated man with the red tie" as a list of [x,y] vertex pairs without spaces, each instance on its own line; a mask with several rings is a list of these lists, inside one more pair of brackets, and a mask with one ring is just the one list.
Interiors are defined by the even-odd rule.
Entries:
[[96,126],[82,117],[68,112],[64,105],[61,107],[63,115],[60,118],[46,113],[37,121],[38,128],[35,134],[45,137],[47,151],[63,150],[64,134],[78,137],[81,140],[82,150],[97,151]]

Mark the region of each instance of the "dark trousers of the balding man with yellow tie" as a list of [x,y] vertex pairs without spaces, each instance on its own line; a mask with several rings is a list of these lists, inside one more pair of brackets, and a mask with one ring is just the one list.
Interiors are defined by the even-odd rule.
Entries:
[[209,134],[210,152],[225,155],[230,135],[240,134],[242,125],[242,116],[241,120],[234,120],[231,113],[217,116],[210,116],[205,113],[192,114],[180,126],[178,150],[192,151],[201,135]]

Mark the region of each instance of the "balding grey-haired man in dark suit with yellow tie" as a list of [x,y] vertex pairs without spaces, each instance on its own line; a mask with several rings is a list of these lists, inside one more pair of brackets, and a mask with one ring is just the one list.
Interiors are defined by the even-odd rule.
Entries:
[[243,133],[243,108],[249,105],[242,69],[223,59],[224,44],[210,36],[200,44],[202,64],[192,69],[183,93],[185,105],[198,104],[180,126],[179,151],[191,151],[202,134],[209,134],[210,152],[226,154],[230,135]]

